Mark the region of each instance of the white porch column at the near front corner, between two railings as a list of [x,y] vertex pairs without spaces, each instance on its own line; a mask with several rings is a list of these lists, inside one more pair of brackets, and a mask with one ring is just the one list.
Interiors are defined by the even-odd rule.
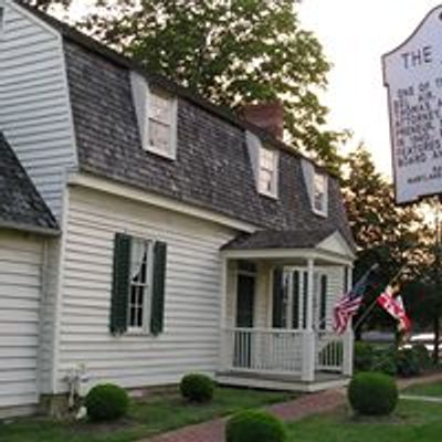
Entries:
[[316,358],[316,337],[313,329],[313,274],[315,270],[314,260],[307,261],[307,308],[306,308],[306,327],[303,333],[302,345],[302,373],[301,379],[305,382],[313,382],[315,380],[315,358]]

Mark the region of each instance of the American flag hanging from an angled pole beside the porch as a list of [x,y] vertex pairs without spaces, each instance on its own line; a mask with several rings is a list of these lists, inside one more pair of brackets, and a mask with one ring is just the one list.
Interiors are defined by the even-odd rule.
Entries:
[[362,277],[345,294],[335,305],[334,329],[341,335],[346,329],[351,317],[358,312],[364,299],[372,272],[378,269],[378,264],[373,264]]

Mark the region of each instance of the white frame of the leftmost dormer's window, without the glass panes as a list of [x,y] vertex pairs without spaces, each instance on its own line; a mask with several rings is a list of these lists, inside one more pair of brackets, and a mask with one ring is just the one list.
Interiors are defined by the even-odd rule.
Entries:
[[[169,124],[169,150],[165,150],[159,146],[155,146],[150,144],[150,122],[155,120],[152,117],[152,97],[154,96],[160,96],[161,98],[165,98],[169,101],[170,103],[170,122]],[[147,97],[147,128],[146,128],[146,144],[144,145],[146,150],[149,150],[154,154],[160,155],[161,157],[170,158],[170,159],[176,159],[177,157],[177,97],[168,94],[167,92],[160,91],[160,90],[154,90],[149,88],[148,90],[148,97]],[[165,124],[165,122],[157,122],[160,124]]]

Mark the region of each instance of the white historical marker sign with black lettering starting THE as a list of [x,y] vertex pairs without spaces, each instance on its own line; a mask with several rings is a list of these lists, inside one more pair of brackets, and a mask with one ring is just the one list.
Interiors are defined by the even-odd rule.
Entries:
[[442,193],[442,7],[382,56],[396,200]]

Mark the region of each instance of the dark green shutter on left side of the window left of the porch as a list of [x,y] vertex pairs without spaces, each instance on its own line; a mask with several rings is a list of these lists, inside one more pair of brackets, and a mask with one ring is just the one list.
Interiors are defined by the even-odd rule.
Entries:
[[116,233],[110,304],[110,333],[113,335],[122,335],[127,330],[129,287],[130,236],[124,233]]

